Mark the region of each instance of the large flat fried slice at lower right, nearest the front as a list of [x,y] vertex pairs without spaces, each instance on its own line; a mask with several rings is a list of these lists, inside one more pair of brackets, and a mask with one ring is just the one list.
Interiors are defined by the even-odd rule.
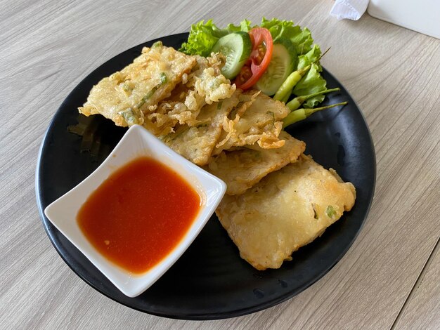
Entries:
[[311,157],[273,172],[216,210],[240,256],[257,270],[280,268],[354,205],[356,190]]

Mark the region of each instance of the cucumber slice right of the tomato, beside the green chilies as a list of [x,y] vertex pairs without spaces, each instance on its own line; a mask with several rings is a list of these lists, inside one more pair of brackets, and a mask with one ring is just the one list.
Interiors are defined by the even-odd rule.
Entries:
[[278,39],[273,44],[272,58],[268,68],[255,88],[266,95],[273,95],[297,65],[297,52],[289,39]]

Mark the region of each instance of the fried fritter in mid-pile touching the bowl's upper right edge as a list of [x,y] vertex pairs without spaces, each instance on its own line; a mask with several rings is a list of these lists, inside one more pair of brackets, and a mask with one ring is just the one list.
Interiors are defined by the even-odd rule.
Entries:
[[194,164],[207,164],[219,139],[221,124],[233,107],[238,104],[240,93],[240,90],[237,90],[231,98],[205,105],[197,117],[197,121],[200,122],[198,126],[181,126],[176,133],[170,133],[162,140]]

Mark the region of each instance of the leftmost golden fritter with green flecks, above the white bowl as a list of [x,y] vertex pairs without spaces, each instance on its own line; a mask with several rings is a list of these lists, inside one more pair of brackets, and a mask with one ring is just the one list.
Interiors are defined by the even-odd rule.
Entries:
[[195,65],[194,56],[158,42],[143,48],[133,63],[93,86],[87,102],[78,110],[86,116],[102,114],[118,126],[142,125],[148,107],[167,98]]

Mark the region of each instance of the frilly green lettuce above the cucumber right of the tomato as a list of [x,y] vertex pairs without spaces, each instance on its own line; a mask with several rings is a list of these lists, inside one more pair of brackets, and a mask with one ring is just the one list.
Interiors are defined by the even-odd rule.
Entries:
[[261,20],[261,27],[266,27],[271,32],[273,41],[279,38],[287,38],[295,44],[297,54],[304,54],[311,50],[311,44],[313,39],[311,38],[311,32],[309,29],[301,29],[299,25],[295,25],[291,20],[278,20],[272,18]]

